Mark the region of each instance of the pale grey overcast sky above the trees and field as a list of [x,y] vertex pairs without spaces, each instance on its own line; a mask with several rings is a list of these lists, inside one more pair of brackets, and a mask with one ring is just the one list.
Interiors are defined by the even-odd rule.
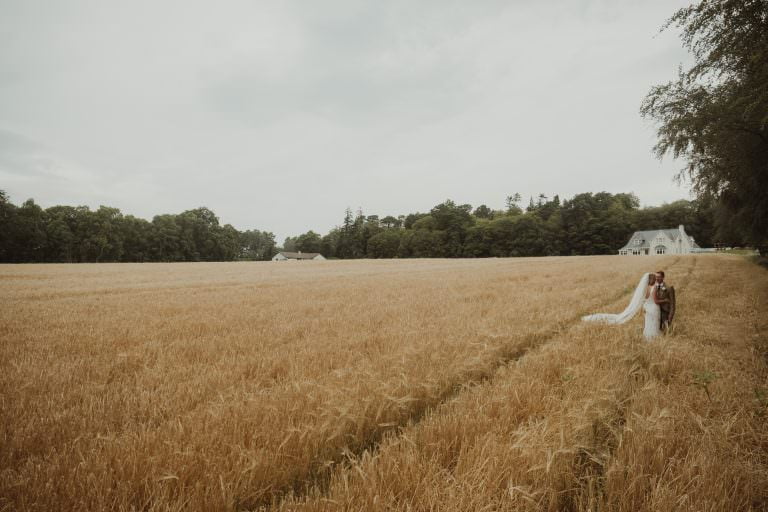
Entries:
[[686,3],[0,0],[0,189],[279,241],[347,206],[688,198],[638,114]]

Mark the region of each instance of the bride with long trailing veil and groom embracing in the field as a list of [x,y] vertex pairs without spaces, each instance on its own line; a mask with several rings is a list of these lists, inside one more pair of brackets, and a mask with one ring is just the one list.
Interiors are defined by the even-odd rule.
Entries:
[[645,311],[645,327],[643,336],[646,341],[655,338],[662,332],[668,332],[675,318],[675,288],[664,283],[664,272],[647,272],[643,274],[635,288],[632,300],[627,309],[619,314],[595,313],[581,317],[585,322],[603,322],[607,324],[623,324],[628,322],[640,311]]

